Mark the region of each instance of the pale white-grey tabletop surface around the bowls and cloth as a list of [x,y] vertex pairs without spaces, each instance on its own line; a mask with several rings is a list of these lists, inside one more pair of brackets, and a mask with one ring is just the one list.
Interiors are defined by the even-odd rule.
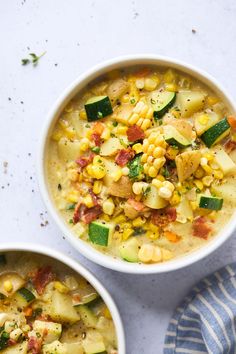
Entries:
[[[172,311],[201,277],[236,260],[236,237],[169,274],[124,275],[93,264],[72,249],[46,213],[36,176],[40,130],[72,80],[123,54],[184,60],[215,76],[236,99],[235,19],[234,0],[0,2],[0,242],[48,245],[95,273],[120,309],[127,354],[162,353]],[[44,51],[37,67],[21,65],[28,53]]]

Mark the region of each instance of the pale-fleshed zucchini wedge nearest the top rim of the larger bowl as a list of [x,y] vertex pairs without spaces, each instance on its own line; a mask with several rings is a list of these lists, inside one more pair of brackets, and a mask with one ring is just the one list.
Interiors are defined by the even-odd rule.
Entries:
[[153,117],[155,120],[161,119],[169,108],[174,104],[176,99],[175,92],[155,91],[151,94],[151,105],[154,110]]

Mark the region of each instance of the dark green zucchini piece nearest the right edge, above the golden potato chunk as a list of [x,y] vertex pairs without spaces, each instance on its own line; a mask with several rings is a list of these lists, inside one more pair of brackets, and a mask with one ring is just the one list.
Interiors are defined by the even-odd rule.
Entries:
[[227,118],[221,119],[218,123],[209,128],[201,135],[201,139],[207,147],[217,144],[230,132],[230,125]]

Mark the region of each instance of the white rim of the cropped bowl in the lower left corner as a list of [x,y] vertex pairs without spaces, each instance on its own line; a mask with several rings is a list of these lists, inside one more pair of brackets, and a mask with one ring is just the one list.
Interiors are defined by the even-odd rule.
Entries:
[[68,257],[62,252],[56,251],[50,247],[42,246],[39,244],[30,244],[30,243],[5,243],[0,245],[0,252],[30,252],[36,253],[43,256],[48,256],[50,258],[56,259],[57,261],[67,265],[69,268],[73,269],[76,273],[80,274],[89,281],[89,283],[97,290],[97,292],[102,296],[104,302],[111,312],[112,319],[116,329],[117,343],[119,354],[125,354],[125,335],[124,335],[124,326],[121,320],[120,313],[118,308],[100,280],[86,267],[81,263],[76,261],[73,258]]

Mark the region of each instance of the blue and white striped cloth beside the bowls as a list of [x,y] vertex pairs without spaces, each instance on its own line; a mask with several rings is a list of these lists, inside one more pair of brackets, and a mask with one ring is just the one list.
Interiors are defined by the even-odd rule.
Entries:
[[201,280],[170,320],[164,354],[236,353],[236,263]]

